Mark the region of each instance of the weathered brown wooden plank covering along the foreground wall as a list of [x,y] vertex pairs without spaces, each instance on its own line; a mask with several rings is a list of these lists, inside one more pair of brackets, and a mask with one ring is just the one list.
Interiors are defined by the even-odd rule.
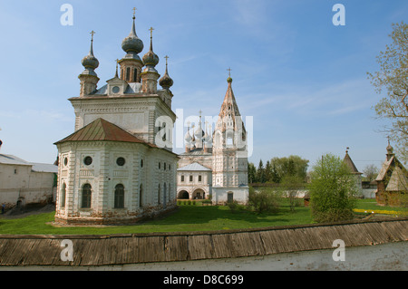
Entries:
[[[0,235],[0,265],[124,265],[374,246],[408,240],[408,218],[246,230],[121,235]],[[73,261],[63,261],[64,239]]]

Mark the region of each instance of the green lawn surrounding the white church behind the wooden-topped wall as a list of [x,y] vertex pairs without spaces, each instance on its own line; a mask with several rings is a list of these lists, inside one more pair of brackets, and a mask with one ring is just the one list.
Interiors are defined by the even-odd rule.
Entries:
[[[289,226],[312,224],[309,207],[296,207],[290,212],[287,199],[281,199],[277,214],[256,214],[249,211],[231,211],[225,206],[179,206],[169,217],[156,219],[131,226],[100,227],[56,227],[46,223],[53,222],[54,213],[44,213],[29,217],[0,218],[0,234],[16,235],[108,235],[126,233],[212,231],[263,226]],[[357,201],[358,209],[405,210],[398,207],[379,207],[373,199]]]

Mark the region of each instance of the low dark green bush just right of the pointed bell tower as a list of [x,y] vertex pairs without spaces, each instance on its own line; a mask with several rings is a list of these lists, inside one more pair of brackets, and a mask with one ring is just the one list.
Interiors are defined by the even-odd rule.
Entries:
[[277,201],[277,193],[267,191],[255,191],[249,188],[248,205],[257,213],[277,213],[279,203]]

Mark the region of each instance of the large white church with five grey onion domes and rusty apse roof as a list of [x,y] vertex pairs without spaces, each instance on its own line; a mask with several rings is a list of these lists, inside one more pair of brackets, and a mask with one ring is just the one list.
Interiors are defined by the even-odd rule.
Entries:
[[55,143],[56,223],[129,223],[176,207],[179,157],[166,133],[176,120],[173,81],[167,56],[161,78],[155,68],[159,57],[153,53],[152,30],[150,50],[141,58],[143,42],[133,15],[131,33],[121,43],[126,54],[117,61],[114,77],[100,88],[92,32],[79,75],[80,95],[69,99],[75,130]]

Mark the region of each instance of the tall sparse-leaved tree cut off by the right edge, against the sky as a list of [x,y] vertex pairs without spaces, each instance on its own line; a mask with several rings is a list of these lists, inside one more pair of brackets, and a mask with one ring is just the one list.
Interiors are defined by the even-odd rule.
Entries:
[[367,72],[375,91],[386,89],[387,97],[379,101],[374,109],[379,118],[391,120],[385,127],[396,144],[400,159],[408,161],[408,24],[393,24],[389,35],[392,43],[377,56],[378,72]]

